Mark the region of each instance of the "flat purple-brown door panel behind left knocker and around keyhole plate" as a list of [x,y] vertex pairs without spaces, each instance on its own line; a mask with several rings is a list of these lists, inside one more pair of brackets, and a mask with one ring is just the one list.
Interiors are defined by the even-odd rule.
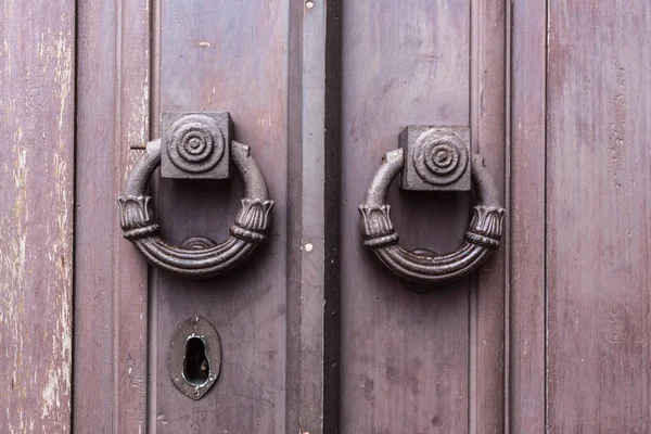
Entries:
[[[150,430],[284,433],[289,3],[161,7],[159,108],[230,112],[234,138],[252,146],[276,206],[268,245],[233,273],[196,282],[152,272]],[[171,242],[218,241],[242,196],[238,175],[230,182],[161,180],[154,209]],[[175,388],[165,362],[171,332],[193,315],[215,326],[222,348],[220,376],[199,401]]]

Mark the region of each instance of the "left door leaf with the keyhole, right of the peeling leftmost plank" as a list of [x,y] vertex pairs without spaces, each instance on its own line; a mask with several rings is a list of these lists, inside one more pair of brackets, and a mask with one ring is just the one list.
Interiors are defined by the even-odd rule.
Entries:
[[[88,239],[76,264],[85,288],[76,303],[76,431],[332,432],[336,367],[324,360],[335,359],[339,317],[324,314],[323,301],[339,293],[326,272],[339,232],[324,221],[336,220],[339,205],[326,195],[339,183],[324,178],[334,179],[327,149],[339,143],[324,110],[327,11],[304,10],[290,1],[80,2],[78,143],[110,142],[79,145],[77,155],[86,186],[78,205],[88,209],[77,229]],[[235,140],[251,145],[264,173],[276,202],[269,240],[235,272],[196,281],[148,270],[119,240],[116,197],[139,149],[159,136],[163,111],[229,112]],[[168,241],[228,237],[240,178],[155,181]],[[92,230],[99,225],[106,232]],[[166,366],[174,332],[195,316],[215,327],[222,354],[217,383],[200,400],[174,386]],[[101,400],[91,398],[98,390]]]

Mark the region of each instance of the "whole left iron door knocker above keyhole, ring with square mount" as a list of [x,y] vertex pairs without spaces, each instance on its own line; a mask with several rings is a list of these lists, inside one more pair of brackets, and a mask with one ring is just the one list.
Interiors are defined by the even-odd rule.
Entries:
[[[231,140],[231,125],[228,113],[163,114],[163,140],[146,144],[118,199],[123,235],[150,264],[187,277],[208,278],[240,265],[266,240],[273,201],[268,199],[265,177],[250,148]],[[163,166],[162,176],[169,178],[224,179],[230,175],[230,163],[244,180],[244,199],[228,240],[214,245],[194,239],[178,246],[159,238],[148,195],[154,170]]]

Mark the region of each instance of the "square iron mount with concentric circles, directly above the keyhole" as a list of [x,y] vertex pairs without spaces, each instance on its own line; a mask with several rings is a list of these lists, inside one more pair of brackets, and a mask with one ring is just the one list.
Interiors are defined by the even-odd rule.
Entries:
[[161,130],[163,178],[230,178],[228,112],[163,112]]

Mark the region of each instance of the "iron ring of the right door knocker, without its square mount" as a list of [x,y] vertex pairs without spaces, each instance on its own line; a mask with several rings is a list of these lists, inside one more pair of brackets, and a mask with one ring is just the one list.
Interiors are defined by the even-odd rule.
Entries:
[[457,280],[475,268],[499,246],[502,235],[505,208],[481,155],[472,157],[472,180],[477,190],[478,204],[465,233],[464,245],[443,255],[414,253],[398,244],[386,203],[386,193],[393,179],[403,170],[404,152],[397,149],[386,153],[365,203],[359,206],[363,244],[371,248],[386,267],[400,277],[420,283],[442,284]]

